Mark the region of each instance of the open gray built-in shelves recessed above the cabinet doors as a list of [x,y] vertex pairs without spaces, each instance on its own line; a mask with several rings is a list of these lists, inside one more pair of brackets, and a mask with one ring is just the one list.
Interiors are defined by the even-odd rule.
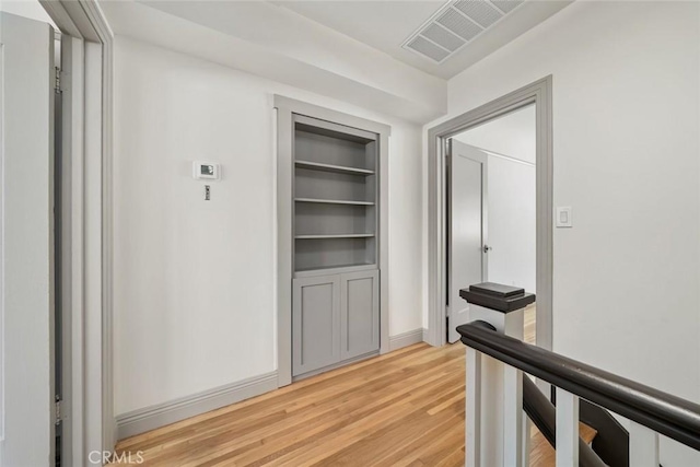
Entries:
[[294,116],[294,270],[376,264],[377,135]]

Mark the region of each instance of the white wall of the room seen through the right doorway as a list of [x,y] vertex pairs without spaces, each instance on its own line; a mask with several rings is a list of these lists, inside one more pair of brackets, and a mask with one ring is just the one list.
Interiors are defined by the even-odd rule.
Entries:
[[535,118],[529,106],[454,137],[492,152],[487,152],[488,280],[529,292],[536,290],[537,269]]

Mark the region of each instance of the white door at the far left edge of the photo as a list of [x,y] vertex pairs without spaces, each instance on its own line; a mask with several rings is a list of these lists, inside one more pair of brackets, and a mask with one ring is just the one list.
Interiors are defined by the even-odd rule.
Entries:
[[55,464],[52,77],[54,30],[0,12],[3,467]]

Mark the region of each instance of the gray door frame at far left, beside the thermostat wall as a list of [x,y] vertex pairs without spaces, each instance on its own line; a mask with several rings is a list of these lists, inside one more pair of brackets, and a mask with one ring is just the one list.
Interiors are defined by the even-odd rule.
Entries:
[[[114,34],[95,0],[39,0],[61,32],[65,465],[116,444],[112,350]],[[101,453],[97,459],[94,453]],[[91,453],[93,455],[91,456]]]

